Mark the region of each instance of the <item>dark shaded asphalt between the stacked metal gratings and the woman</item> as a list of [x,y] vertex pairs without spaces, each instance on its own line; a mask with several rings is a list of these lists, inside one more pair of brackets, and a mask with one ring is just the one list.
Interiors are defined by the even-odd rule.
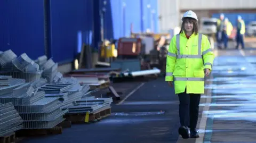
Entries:
[[73,124],[63,129],[62,134],[21,142],[177,142],[179,102],[174,90],[164,78],[129,84],[140,88],[122,104],[113,104],[112,114],[106,119],[92,124]]

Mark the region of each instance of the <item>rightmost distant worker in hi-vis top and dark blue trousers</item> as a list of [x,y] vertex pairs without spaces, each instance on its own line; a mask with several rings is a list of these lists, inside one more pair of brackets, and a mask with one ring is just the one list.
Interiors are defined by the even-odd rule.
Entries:
[[238,49],[239,44],[242,45],[244,49],[244,33],[245,33],[245,24],[240,15],[237,16],[237,32],[236,32],[236,48]]

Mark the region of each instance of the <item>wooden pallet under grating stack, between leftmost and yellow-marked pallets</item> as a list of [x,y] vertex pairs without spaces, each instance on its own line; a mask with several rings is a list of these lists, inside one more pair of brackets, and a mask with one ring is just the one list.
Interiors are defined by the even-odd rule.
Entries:
[[62,127],[53,127],[51,129],[22,129],[16,132],[18,137],[44,136],[49,134],[62,134]]

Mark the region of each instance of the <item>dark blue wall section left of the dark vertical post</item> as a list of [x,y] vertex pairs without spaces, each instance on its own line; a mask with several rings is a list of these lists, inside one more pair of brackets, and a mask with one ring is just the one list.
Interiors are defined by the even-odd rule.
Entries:
[[0,51],[12,49],[33,59],[44,54],[43,6],[43,1],[0,1]]

